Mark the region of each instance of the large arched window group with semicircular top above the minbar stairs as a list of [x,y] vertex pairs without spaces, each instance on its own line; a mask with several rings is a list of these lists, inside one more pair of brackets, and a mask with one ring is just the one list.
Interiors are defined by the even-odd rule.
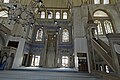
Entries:
[[[94,23],[97,23],[98,35],[105,35],[108,33],[113,33],[113,25],[110,17],[104,11],[98,10],[94,14]],[[95,34],[96,32],[95,31]]]

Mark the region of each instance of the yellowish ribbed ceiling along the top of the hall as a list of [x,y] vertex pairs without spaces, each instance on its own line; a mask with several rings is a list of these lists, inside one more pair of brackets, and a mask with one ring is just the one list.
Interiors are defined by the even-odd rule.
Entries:
[[[3,3],[4,0],[0,0],[0,3]],[[21,3],[22,5],[32,5],[33,7],[36,7],[39,3],[36,1],[38,0],[9,0],[10,3]],[[103,1],[103,0],[101,0]],[[116,2],[120,2],[120,0],[110,0],[111,4],[114,4]],[[45,7],[53,7],[53,8],[68,8],[72,6],[80,6],[81,4],[93,4],[94,0],[42,0],[43,5]],[[0,4],[0,9],[4,9],[3,6]]]

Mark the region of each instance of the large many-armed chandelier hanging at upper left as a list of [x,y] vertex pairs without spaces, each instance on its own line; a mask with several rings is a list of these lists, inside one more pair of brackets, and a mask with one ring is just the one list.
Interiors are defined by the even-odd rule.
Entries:
[[[34,0],[34,2],[36,3],[37,7],[33,7],[33,6],[27,7],[27,5],[23,6],[20,3],[5,5],[4,7],[6,7],[8,11],[7,24],[10,26],[14,26],[15,24],[20,24],[22,25],[24,32],[27,32],[28,27],[32,29],[35,26],[35,24],[37,24],[34,12],[40,14],[41,8],[45,8],[45,5],[43,4],[43,0]],[[55,24],[57,24],[57,22],[55,22]]]

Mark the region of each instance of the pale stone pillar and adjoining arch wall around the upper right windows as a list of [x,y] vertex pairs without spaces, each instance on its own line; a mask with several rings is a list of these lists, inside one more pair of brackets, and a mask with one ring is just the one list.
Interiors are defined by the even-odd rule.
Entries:
[[[96,10],[103,10],[108,13],[115,31],[120,32],[120,16],[115,5],[81,5],[73,8],[73,37],[74,37],[74,54],[75,54],[75,67],[77,68],[77,53],[88,53],[88,45],[86,39],[86,27],[88,21],[88,7],[91,15]],[[101,37],[103,41],[108,43],[106,37]],[[89,54],[88,54],[89,55]],[[88,60],[89,66],[89,60]],[[90,72],[90,67],[89,67]]]

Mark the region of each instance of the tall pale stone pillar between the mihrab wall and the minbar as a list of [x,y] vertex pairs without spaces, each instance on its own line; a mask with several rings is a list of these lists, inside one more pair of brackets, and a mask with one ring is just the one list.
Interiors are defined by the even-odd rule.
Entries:
[[[87,6],[73,8],[73,36],[74,36],[74,54],[75,54],[75,68],[78,69],[77,53],[88,53],[86,26],[87,26]],[[89,59],[87,59],[89,60]],[[89,61],[88,61],[88,70]]]

